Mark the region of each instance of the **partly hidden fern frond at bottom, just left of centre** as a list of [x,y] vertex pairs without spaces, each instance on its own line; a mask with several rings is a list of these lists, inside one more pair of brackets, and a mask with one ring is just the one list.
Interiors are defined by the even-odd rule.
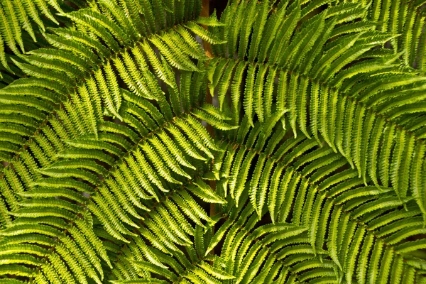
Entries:
[[211,263],[214,258],[207,256],[208,236],[204,236],[204,230],[218,220],[209,217],[198,204],[198,198],[205,200],[206,196],[209,202],[226,203],[203,177],[165,192],[141,221],[138,236],[114,251],[118,263],[112,275],[119,280],[113,283],[131,283],[135,278],[154,282],[163,277],[172,283],[217,283],[234,278],[224,271],[222,263]]

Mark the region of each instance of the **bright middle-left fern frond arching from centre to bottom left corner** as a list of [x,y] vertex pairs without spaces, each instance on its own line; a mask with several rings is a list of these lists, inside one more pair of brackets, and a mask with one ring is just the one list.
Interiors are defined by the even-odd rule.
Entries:
[[[35,282],[39,279],[55,282],[58,280],[55,275],[60,275],[63,281],[70,283],[87,283],[87,278],[101,283],[103,274],[99,259],[111,265],[109,258],[104,249],[100,251],[103,246],[95,243],[96,239],[84,244],[81,239],[84,233],[78,231],[79,224],[90,231],[92,217],[116,240],[128,243],[130,236],[141,234],[147,241],[158,244],[161,251],[178,250],[173,242],[181,246],[187,244],[188,238],[180,235],[180,239],[176,239],[173,232],[184,219],[180,215],[178,222],[170,219],[175,229],[162,231],[160,225],[164,217],[152,215],[150,208],[153,200],[156,200],[154,203],[160,202],[161,192],[170,192],[173,190],[171,185],[182,185],[186,180],[191,181],[187,191],[180,195],[173,195],[174,191],[170,194],[175,196],[178,207],[190,205],[192,209],[186,214],[195,218],[194,222],[202,225],[200,218],[211,221],[188,195],[191,192],[207,202],[225,202],[205,182],[194,177],[195,170],[206,167],[205,160],[213,158],[214,151],[219,151],[209,133],[191,113],[194,108],[198,109],[198,115],[213,111],[202,107],[205,89],[199,82],[207,78],[205,73],[182,72],[181,76],[186,77],[185,84],[197,84],[199,89],[193,87],[193,93],[189,94],[181,80],[181,88],[170,92],[169,98],[161,97],[158,107],[143,97],[119,89],[123,96],[119,114],[123,124],[102,119],[97,136],[94,136],[88,125],[90,121],[86,121],[85,126],[80,126],[88,133],[72,140],[64,139],[67,146],[50,157],[40,153],[40,158],[47,160],[45,163],[40,160],[42,167],[35,169],[38,176],[32,177],[31,190],[19,193],[25,198],[17,204],[19,209],[12,213],[16,220],[1,232],[6,236],[2,250],[8,251],[11,244],[18,243],[23,244],[23,248],[14,249],[15,253],[31,255],[26,246],[33,243],[33,234],[43,237],[42,241],[35,240],[31,245],[33,249],[44,249],[48,245],[50,250],[43,251],[43,258],[33,260],[33,263],[17,259],[13,269],[9,268],[12,272],[6,274],[27,276]],[[71,109],[67,111],[72,114]],[[223,116],[218,111],[216,114]],[[78,117],[76,114],[77,121]],[[216,118],[216,121],[226,124],[221,119]],[[192,141],[197,142],[193,144]],[[170,206],[177,209],[176,204]],[[84,218],[86,215],[89,219]],[[150,223],[151,230],[148,231],[138,225],[147,218],[157,222]],[[134,231],[135,228],[141,231]],[[93,253],[86,255],[86,249]],[[70,251],[72,255],[69,255]],[[94,261],[96,259],[98,261]],[[4,261],[5,266],[10,263]],[[28,264],[38,268],[28,270]]]

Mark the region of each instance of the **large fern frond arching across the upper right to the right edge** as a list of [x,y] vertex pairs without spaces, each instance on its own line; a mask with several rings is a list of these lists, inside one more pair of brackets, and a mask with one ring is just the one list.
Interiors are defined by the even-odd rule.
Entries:
[[[239,5],[238,9],[245,9],[246,13],[251,13],[251,9],[254,9],[253,6],[250,6],[249,8],[249,6],[245,5],[246,4]],[[337,81],[332,80],[334,77],[337,78],[339,77],[340,73],[345,74],[346,72],[349,72],[349,70],[354,68],[357,64],[360,64],[360,66],[362,64],[365,67],[366,62],[369,60],[368,57],[363,57],[364,54],[368,53],[368,50],[371,50],[374,45],[383,44],[387,40],[391,40],[393,37],[392,35],[386,35],[385,33],[377,33],[373,31],[360,32],[359,29],[356,28],[356,30],[352,30],[356,31],[355,33],[347,33],[347,35],[342,35],[337,40],[333,40],[332,42],[327,43],[325,38],[321,38],[319,36],[323,31],[321,28],[322,21],[327,22],[325,26],[330,25],[330,28],[324,30],[323,36],[332,35],[335,23],[344,23],[343,26],[348,26],[347,31],[351,31],[349,27],[354,23],[350,23],[349,18],[346,18],[345,15],[349,14],[349,11],[355,11],[356,9],[364,9],[365,11],[366,8],[362,8],[359,6],[359,4],[355,6],[351,6],[351,4],[346,6],[334,6],[329,8],[327,11],[318,14],[314,18],[310,18],[310,20],[306,22],[302,21],[300,28],[296,28],[295,23],[300,20],[300,16],[298,16],[298,7],[299,4],[293,4],[293,6],[288,8],[282,8],[290,10],[282,12],[290,13],[290,16],[286,19],[280,20],[282,21],[281,25],[283,25],[283,27],[288,26],[288,28],[283,28],[285,34],[280,35],[278,37],[279,40],[266,38],[265,43],[263,43],[263,40],[261,40],[261,46],[263,44],[271,44],[271,54],[273,57],[268,58],[266,65],[257,65],[256,63],[249,65],[246,82],[241,82],[241,84],[245,84],[244,96],[243,99],[241,99],[244,106],[244,114],[248,116],[249,124],[251,124],[251,126],[253,126],[252,121],[254,118],[258,119],[259,121],[263,121],[264,114],[262,111],[263,108],[261,106],[264,104],[264,102],[261,102],[258,99],[256,100],[256,96],[262,99],[264,89],[273,89],[275,82],[273,82],[273,80],[268,80],[266,86],[263,84],[263,88],[256,88],[256,85],[262,86],[261,82],[266,76],[265,73],[268,71],[275,72],[275,66],[278,66],[278,69],[283,70],[283,72],[291,72],[291,75],[289,76],[290,80],[283,79],[283,81],[281,81],[283,86],[285,86],[285,92],[278,92],[278,94],[274,96],[274,99],[276,100],[277,104],[280,102],[280,106],[282,105],[290,108],[288,121],[290,122],[290,127],[293,129],[294,134],[296,135],[298,129],[300,129],[308,138],[311,137],[312,132],[316,138],[318,134],[320,134],[320,136],[324,138],[324,141],[326,141],[334,151],[339,151],[346,158],[346,160],[349,161],[351,167],[356,168],[359,171],[360,176],[365,177],[365,180],[366,175],[369,175],[369,177],[375,180],[377,184],[380,184],[376,178],[376,173],[380,172],[383,173],[383,175],[380,176],[381,184],[387,186],[391,168],[393,168],[393,172],[396,171],[399,173],[401,170],[404,173],[409,173],[410,166],[408,163],[411,163],[411,156],[413,155],[412,153],[417,143],[415,141],[417,141],[418,136],[416,136],[416,134],[413,136],[412,133],[407,134],[409,132],[408,129],[405,129],[405,127],[397,121],[399,117],[403,116],[404,114],[416,113],[421,115],[422,111],[424,111],[424,108],[421,105],[414,103],[416,98],[421,100],[421,95],[419,94],[420,97],[417,97],[415,90],[422,88],[420,87],[421,84],[416,82],[417,80],[421,81],[423,79],[421,77],[415,76],[408,70],[401,74],[393,73],[391,70],[386,71],[388,66],[382,63],[381,68],[383,69],[381,69],[381,74],[375,76],[380,81],[380,83],[377,83],[377,87],[365,87],[364,89],[363,82],[366,80],[366,76],[364,74],[360,74],[358,77],[355,74],[351,75],[351,77],[354,77],[359,81],[358,87],[356,88],[352,87],[355,81],[349,79],[349,77],[346,79],[348,84],[345,84],[344,81],[339,80],[339,84],[335,85],[334,83]],[[231,15],[231,13],[238,13],[238,9],[233,10],[231,9],[231,6],[229,6],[226,13],[230,13],[229,15]],[[261,11],[262,6],[258,5],[256,9]],[[280,9],[278,9],[277,13],[280,13]],[[226,17],[229,15],[226,14]],[[356,15],[358,16],[358,14]],[[270,21],[271,23],[269,23]],[[265,25],[271,25],[272,27],[274,24],[276,25],[277,21],[277,18],[270,16],[266,20]],[[314,26],[315,28],[313,28]],[[221,32],[219,32],[221,28],[226,29],[227,26],[217,28],[218,36],[221,35]],[[295,28],[296,30],[294,30]],[[342,30],[342,26],[340,26],[339,29]],[[224,33],[226,34],[226,31],[224,31]],[[278,34],[280,34],[279,31]],[[243,40],[244,35],[236,36]],[[310,36],[312,38],[310,38]],[[289,38],[293,38],[293,43],[286,45],[285,41]],[[306,39],[306,43],[303,42],[303,38]],[[231,44],[233,41],[234,40],[229,40],[228,44]],[[298,45],[299,43],[300,45]],[[239,50],[244,48],[244,46],[238,46],[235,48],[233,46],[234,45],[228,45],[228,48],[235,50],[238,53],[240,60],[246,60],[245,53],[239,53]],[[305,53],[307,50],[310,50],[310,48],[315,48],[315,53],[313,57],[310,58],[310,60],[307,60],[307,58],[305,58]],[[323,50],[323,52],[320,52],[320,50]],[[227,55],[220,53],[218,55],[220,57],[227,57]],[[266,59],[266,57],[262,55],[258,56],[259,59]],[[312,60],[313,58],[317,59]],[[360,60],[361,58],[366,59],[359,63],[355,63],[350,68],[344,68],[344,66],[348,65],[349,62],[354,62],[354,60]],[[254,59],[255,58],[251,60]],[[233,59],[229,58],[228,60]],[[373,60],[371,60],[371,63],[373,63]],[[301,65],[305,66],[304,70],[300,70],[300,67],[297,67]],[[327,67],[324,68],[324,65],[327,65]],[[373,71],[373,69],[369,72],[371,75],[376,73],[376,71]],[[237,74],[235,73],[234,76],[236,75]],[[220,85],[229,86],[229,81],[232,79],[231,77],[225,78],[213,76],[210,80],[212,81],[212,86],[214,87]],[[227,82],[224,82],[224,80]],[[255,84],[257,80],[259,83]],[[383,84],[384,81],[381,80],[386,80],[388,84]],[[322,82],[323,87],[318,89],[317,82]],[[398,86],[402,85],[407,87],[410,86],[408,88],[411,91],[406,89],[406,92],[410,93],[407,94],[406,100],[404,97],[398,97],[398,99],[393,97],[393,89],[398,89]],[[280,85],[278,85],[278,89],[280,88]],[[231,91],[232,89],[233,87],[231,85]],[[221,89],[221,92],[225,93],[226,89]],[[219,96],[221,95],[223,96],[223,94],[219,94]],[[383,96],[388,96],[388,99],[383,99]],[[233,95],[231,94],[231,98],[232,97]],[[376,99],[374,99],[374,97],[376,97]],[[376,100],[379,99],[379,97],[381,98],[381,102],[383,102],[381,104],[383,107],[386,106],[387,109],[393,109],[395,112],[391,114],[390,112],[386,112],[387,109],[381,109],[379,106],[380,104],[376,104]],[[282,102],[283,100],[287,102],[284,103]],[[223,99],[221,99],[221,101],[223,101]],[[307,101],[311,102],[310,109],[307,108]],[[409,102],[413,102],[412,109],[408,108],[410,106]],[[233,105],[238,106],[238,104],[235,102],[233,102]],[[254,106],[255,111],[253,111],[252,106]],[[400,112],[398,112],[398,107],[396,106],[400,106]],[[236,113],[239,111],[239,108],[236,107]],[[243,111],[243,109],[241,109],[241,111]],[[254,116],[255,114],[256,116]],[[384,116],[387,119],[387,122],[384,124],[384,127],[387,129],[394,129],[394,127],[398,125],[398,131],[395,133],[396,136],[393,136],[393,133],[390,133],[390,136],[386,136],[384,138],[385,140],[383,141],[377,140],[379,138],[377,136],[372,136],[374,140],[370,141],[370,135],[368,134],[369,131],[365,131],[365,129],[367,127],[372,129],[373,121],[381,116]],[[307,117],[314,118],[310,125],[312,126],[312,129],[308,128],[307,126]],[[343,118],[344,127],[334,126],[336,121],[339,121],[339,119]],[[365,119],[369,119],[371,122],[369,124],[364,124]],[[392,145],[392,143],[395,143],[393,141],[397,141],[397,139],[400,139],[406,135],[409,135],[410,137],[410,142],[408,143],[406,152],[408,158],[403,158],[403,153],[401,152],[401,155],[396,155],[392,160],[390,159],[391,153],[383,153],[385,156],[381,158],[383,163],[380,164],[373,162],[373,165],[370,165],[370,159],[365,161],[361,160],[361,157],[365,156],[365,154],[368,152],[377,153],[381,143],[388,143],[383,145],[388,145],[386,149],[390,149],[389,147]],[[422,145],[422,143],[420,144]],[[400,163],[403,163],[402,168],[400,168]],[[371,168],[371,170],[366,171],[367,168]],[[401,173],[396,176],[402,176]],[[393,176],[395,177],[395,175]],[[399,184],[395,185],[395,190],[398,188],[398,192],[399,190],[402,190],[402,192],[407,192],[406,185],[408,185],[408,180],[410,178],[407,174],[404,174],[403,176],[405,178],[402,184],[402,188],[400,189]],[[395,180],[393,183],[395,182],[397,181]],[[405,193],[402,195],[405,196]]]

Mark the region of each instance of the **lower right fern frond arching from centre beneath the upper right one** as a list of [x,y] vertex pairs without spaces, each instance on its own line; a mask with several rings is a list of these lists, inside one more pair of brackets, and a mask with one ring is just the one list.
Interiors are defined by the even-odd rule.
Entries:
[[[307,278],[303,280],[321,275],[332,275],[332,283],[342,279],[346,283],[376,283],[379,280],[383,283],[415,283],[411,281],[421,279],[420,275],[412,279],[408,273],[419,269],[420,264],[408,264],[410,262],[405,260],[413,257],[413,251],[425,247],[421,239],[410,241],[413,236],[425,234],[422,212],[412,197],[400,198],[392,188],[376,187],[371,180],[364,185],[356,170],[350,168],[342,155],[302,133],[293,138],[290,131],[285,133],[278,130],[266,137],[268,143],[261,143],[264,139],[263,131],[258,130],[261,128],[256,124],[243,133],[241,126],[237,138],[228,144],[222,155],[218,191],[225,196],[226,192],[232,195],[234,185],[242,182],[242,193],[234,193],[235,197],[232,198],[241,202],[241,196],[249,196],[251,210],[256,212],[252,222],[262,217],[264,219],[264,214],[268,214],[272,224],[266,227],[269,226],[271,230],[278,230],[285,224],[285,230],[277,233],[275,238],[265,236],[265,239],[294,236],[295,242],[288,243],[293,244],[291,248],[279,251],[281,247],[273,245],[272,251],[278,251],[278,256],[271,256],[273,260],[268,267],[272,267],[275,261],[291,256],[292,252],[307,253],[305,257],[298,255],[294,261],[309,259],[309,262],[315,263],[314,259],[319,257],[318,263],[327,260],[330,264],[318,269],[318,274],[310,271],[313,274],[307,273],[310,276],[306,275]],[[253,144],[256,140],[257,143]],[[245,180],[241,173],[249,168],[255,169],[256,174]],[[406,219],[408,217],[410,221]],[[233,229],[234,226],[226,228],[230,231]],[[296,236],[302,233],[305,236]],[[247,233],[246,237],[251,236]],[[302,241],[304,238],[305,241]],[[243,244],[242,241],[238,244],[240,249],[244,247]],[[255,247],[249,246],[253,250]],[[226,241],[224,248],[229,249]],[[238,250],[229,251],[234,253],[235,260]],[[263,256],[262,259],[267,261],[268,258]],[[417,258],[416,261],[421,262]],[[244,262],[236,263],[241,266],[238,263]],[[297,267],[299,265],[303,266],[302,262]],[[293,272],[293,269],[283,268],[283,271],[287,270]],[[417,274],[417,271],[413,273]],[[263,271],[259,274],[263,275]],[[286,275],[283,279],[290,281],[295,277],[300,275]],[[241,283],[249,283],[245,279]],[[279,283],[287,283],[285,280]],[[258,282],[253,280],[253,283]]]

